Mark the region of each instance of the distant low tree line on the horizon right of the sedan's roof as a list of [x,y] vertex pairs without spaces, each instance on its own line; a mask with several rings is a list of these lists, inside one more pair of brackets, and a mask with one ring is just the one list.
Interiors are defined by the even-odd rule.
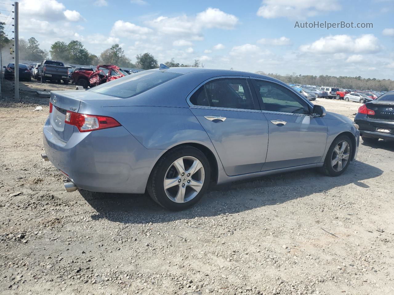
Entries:
[[275,79],[281,80],[284,83],[303,84],[303,85],[316,85],[316,86],[332,86],[344,89],[362,89],[373,91],[390,91],[394,89],[394,81],[391,79],[376,79],[376,78],[362,78],[347,77],[347,76],[328,76],[328,75],[279,75],[279,74],[265,74],[258,71],[256,74],[262,74]]

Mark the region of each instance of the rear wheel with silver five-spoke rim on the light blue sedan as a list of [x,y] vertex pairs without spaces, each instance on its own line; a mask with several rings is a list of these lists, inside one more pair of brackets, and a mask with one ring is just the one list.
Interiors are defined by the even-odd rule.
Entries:
[[147,191],[164,208],[183,210],[203,197],[210,177],[210,164],[204,153],[192,146],[180,146],[156,163]]

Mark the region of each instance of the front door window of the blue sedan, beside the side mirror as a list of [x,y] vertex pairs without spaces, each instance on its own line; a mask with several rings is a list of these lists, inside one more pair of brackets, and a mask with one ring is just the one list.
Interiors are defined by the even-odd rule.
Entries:
[[294,114],[310,114],[308,103],[294,92],[277,83],[254,80],[256,93],[264,103],[264,110]]

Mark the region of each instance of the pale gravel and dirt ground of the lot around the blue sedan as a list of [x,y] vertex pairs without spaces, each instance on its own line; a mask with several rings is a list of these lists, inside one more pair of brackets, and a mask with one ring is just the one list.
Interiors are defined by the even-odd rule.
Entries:
[[[48,99],[31,90],[73,86],[24,84],[23,103],[0,101],[0,294],[394,294],[393,144],[361,142],[340,177],[214,186],[168,212],[66,193],[39,156]],[[360,106],[316,103],[350,118]]]

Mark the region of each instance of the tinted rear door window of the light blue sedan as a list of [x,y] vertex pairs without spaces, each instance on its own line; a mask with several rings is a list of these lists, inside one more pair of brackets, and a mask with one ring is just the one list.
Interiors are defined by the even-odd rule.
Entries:
[[254,110],[246,79],[223,78],[205,83],[190,97],[193,105]]

